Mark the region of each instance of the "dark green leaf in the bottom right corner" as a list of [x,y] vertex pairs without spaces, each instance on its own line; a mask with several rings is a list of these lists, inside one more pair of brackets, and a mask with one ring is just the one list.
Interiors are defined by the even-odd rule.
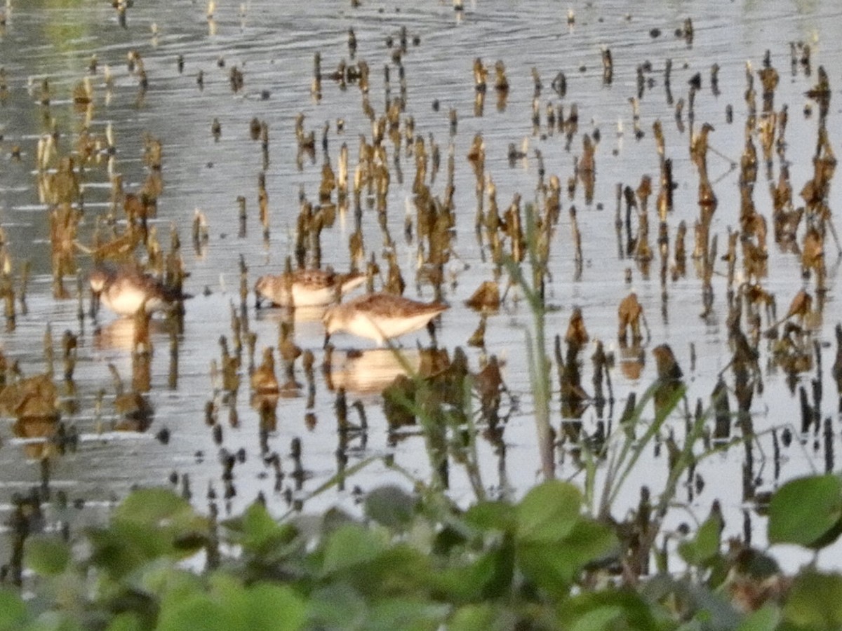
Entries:
[[842,628],[842,575],[804,570],[795,577],[784,618],[811,631]]

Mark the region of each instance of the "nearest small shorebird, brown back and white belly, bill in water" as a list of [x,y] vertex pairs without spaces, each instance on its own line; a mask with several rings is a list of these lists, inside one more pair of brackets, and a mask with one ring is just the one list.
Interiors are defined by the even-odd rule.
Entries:
[[366,294],[328,307],[322,318],[325,346],[335,331],[368,337],[383,346],[392,337],[418,331],[447,308],[440,302],[417,302],[395,294]]

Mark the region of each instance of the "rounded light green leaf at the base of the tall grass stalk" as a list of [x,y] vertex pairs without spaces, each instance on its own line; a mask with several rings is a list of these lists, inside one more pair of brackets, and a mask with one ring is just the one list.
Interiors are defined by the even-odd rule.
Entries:
[[578,488],[559,480],[544,482],[517,506],[517,536],[532,544],[558,542],[573,530],[581,509]]

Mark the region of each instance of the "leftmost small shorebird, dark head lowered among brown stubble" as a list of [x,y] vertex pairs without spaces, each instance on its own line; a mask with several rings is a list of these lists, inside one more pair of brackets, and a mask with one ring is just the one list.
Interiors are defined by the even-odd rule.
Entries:
[[91,272],[90,284],[93,295],[117,315],[135,315],[141,307],[147,313],[168,310],[189,298],[179,289],[131,267],[96,268]]

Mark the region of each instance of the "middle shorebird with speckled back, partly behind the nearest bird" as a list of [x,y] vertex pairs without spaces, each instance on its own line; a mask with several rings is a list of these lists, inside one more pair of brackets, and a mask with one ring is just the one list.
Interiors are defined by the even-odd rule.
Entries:
[[280,307],[320,307],[336,302],[365,283],[365,274],[335,273],[323,269],[298,269],[275,276],[261,276],[254,284],[257,305],[261,299]]

